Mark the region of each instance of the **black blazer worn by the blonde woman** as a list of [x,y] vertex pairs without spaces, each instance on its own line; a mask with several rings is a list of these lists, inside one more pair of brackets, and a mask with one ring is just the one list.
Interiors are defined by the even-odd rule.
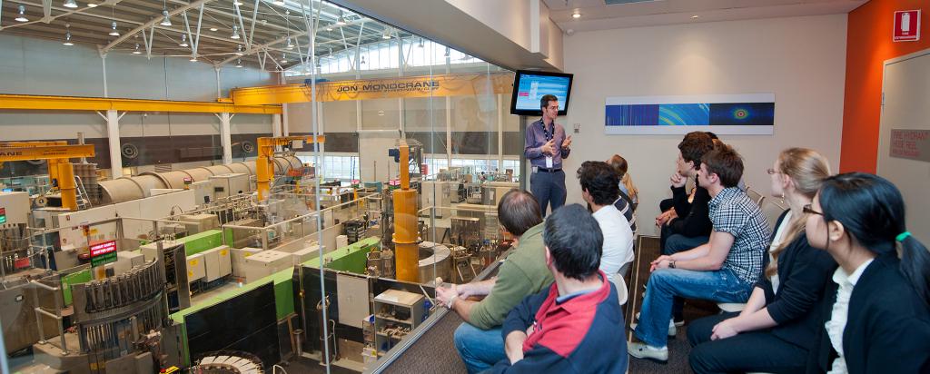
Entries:
[[[787,214],[785,211],[778,217],[776,227],[781,225]],[[765,262],[767,267],[768,256],[765,256]],[[807,350],[817,346],[814,344],[817,327],[823,326],[817,304],[823,299],[824,287],[831,282],[836,266],[836,261],[827,251],[807,243],[803,232],[781,252],[778,256],[778,292],[774,291],[765,274],[756,283],[756,287],[765,292],[768,314],[778,324],[772,328],[772,335]]]

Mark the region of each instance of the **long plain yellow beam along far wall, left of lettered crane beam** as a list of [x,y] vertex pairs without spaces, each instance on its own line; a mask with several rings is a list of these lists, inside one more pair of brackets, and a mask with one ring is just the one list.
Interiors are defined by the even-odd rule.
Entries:
[[174,113],[281,114],[280,105],[234,105],[224,102],[73,98],[0,95],[0,109],[44,111],[126,111]]

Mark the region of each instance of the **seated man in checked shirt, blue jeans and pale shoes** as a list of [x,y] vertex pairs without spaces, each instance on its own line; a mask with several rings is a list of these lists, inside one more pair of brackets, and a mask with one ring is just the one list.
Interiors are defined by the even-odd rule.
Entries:
[[643,342],[629,345],[633,357],[668,361],[672,297],[718,302],[749,299],[762,273],[769,234],[762,210],[737,188],[742,174],[742,158],[730,147],[713,150],[701,159],[697,181],[711,194],[711,242],[652,262],[640,320],[633,327]]

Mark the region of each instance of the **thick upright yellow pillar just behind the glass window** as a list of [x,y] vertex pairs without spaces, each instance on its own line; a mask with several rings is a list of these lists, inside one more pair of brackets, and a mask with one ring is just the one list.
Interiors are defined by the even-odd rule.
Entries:
[[419,283],[417,191],[410,189],[410,148],[400,146],[401,188],[394,190],[394,269],[397,280]]

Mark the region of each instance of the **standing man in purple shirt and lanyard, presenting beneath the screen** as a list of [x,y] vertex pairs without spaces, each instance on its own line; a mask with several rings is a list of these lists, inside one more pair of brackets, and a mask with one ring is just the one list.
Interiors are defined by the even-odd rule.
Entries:
[[524,153],[533,167],[529,189],[545,216],[550,203],[552,211],[565,205],[562,159],[571,153],[568,147],[572,145],[572,137],[565,137],[565,127],[555,123],[555,117],[559,116],[559,100],[554,95],[544,95],[539,101],[542,119],[526,127]]

